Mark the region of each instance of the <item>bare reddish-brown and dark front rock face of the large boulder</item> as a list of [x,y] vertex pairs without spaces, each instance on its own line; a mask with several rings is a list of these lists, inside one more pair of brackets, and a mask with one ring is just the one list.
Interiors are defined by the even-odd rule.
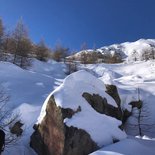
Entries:
[[87,155],[99,148],[86,131],[63,123],[78,111],[80,107],[76,111],[57,107],[54,96],[50,98],[46,116],[31,136],[30,146],[38,155]]

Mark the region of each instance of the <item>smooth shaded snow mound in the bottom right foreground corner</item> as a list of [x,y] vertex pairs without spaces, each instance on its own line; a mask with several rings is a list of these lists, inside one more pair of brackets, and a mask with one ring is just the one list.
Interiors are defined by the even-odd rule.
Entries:
[[127,138],[90,155],[154,155],[154,146],[155,141],[151,139]]

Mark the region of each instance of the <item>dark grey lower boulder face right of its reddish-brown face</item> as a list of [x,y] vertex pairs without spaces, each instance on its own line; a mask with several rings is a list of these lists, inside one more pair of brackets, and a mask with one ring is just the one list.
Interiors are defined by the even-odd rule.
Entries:
[[86,131],[65,125],[64,155],[88,155],[97,149],[99,147]]

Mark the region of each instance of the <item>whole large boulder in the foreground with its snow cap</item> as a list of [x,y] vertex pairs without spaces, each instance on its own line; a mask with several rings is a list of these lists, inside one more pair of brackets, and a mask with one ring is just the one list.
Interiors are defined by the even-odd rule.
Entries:
[[40,155],[87,155],[126,138],[113,112],[119,107],[104,83],[78,71],[46,99],[30,145]]

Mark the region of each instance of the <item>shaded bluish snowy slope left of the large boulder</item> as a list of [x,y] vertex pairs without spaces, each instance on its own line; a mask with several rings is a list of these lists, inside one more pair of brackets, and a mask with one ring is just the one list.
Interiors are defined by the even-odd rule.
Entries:
[[29,147],[33,125],[48,94],[59,86],[65,74],[64,65],[54,61],[44,63],[33,60],[30,70],[23,70],[8,62],[0,62],[0,84],[10,96],[7,108],[20,113],[24,123],[24,135],[16,146],[5,155],[33,154]]

